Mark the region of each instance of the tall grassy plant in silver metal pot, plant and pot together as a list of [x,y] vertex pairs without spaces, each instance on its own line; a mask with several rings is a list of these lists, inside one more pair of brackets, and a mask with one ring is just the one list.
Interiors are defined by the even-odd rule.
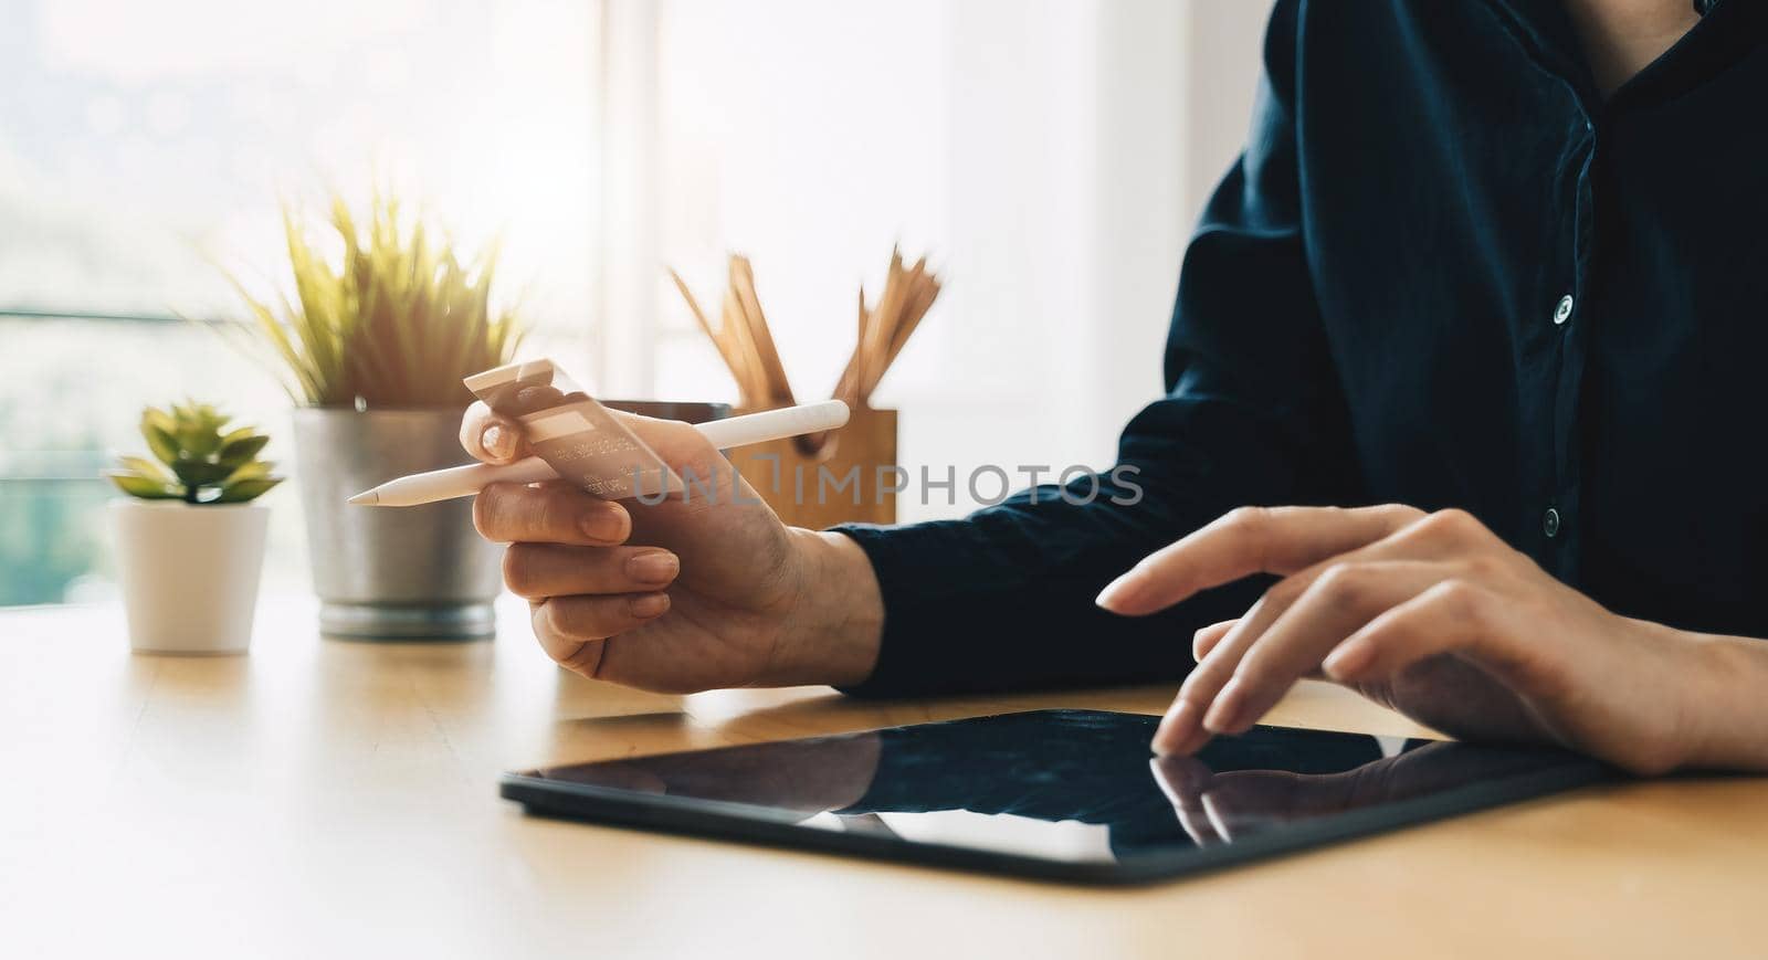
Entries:
[[495,251],[463,263],[421,219],[377,194],[357,223],[334,198],[327,260],[283,210],[295,297],[276,306],[235,281],[278,357],[295,410],[295,479],[320,629],[355,638],[493,633],[500,550],[472,529],[472,502],[362,509],[345,500],[387,479],[460,463],[461,378],[509,362],[522,331],[492,302]]

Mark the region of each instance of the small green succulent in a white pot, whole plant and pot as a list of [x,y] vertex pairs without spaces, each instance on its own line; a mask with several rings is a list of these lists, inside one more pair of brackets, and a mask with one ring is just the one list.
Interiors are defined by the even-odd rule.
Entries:
[[258,460],[269,437],[187,401],[141,414],[154,458],[124,456],[106,476],[129,497],[110,523],[138,652],[232,654],[251,642],[271,511],[255,500],[283,477]]

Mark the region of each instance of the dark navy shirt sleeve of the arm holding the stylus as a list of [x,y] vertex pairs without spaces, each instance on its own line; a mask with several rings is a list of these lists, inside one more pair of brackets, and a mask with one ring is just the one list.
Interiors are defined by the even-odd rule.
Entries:
[[[1246,582],[1124,619],[1093,598],[1144,555],[1245,504],[1347,495],[1344,398],[1303,242],[1296,4],[1280,2],[1245,152],[1185,253],[1167,394],[1124,428],[1117,463],[964,520],[845,525],[884,596],[872,675],[849,693],[905,697],[1181,677],[1192,631],[1236,617]],[[1077,331],[1077,336],[1087,336]]]

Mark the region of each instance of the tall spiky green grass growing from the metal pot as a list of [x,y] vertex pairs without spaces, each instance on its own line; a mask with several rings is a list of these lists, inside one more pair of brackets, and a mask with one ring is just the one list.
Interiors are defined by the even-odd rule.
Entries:
[[433,240],[421,217],[407,223],[398,200],[378,191],[366,225],[334,194],[331,228],[343,240],[338,263],[283,205],[295,301],[279,295],[272,306],[230,276],[288,373],[290,396],[357,410],[470,403],[461,378],[509,362],[522,339],[514,311],[492,308],[495,244],[463,265],[451,242]]

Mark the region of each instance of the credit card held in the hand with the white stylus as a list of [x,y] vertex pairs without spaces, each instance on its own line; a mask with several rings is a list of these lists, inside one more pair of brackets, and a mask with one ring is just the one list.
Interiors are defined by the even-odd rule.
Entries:
[[656,451],[548,359],[474,373],[465,384],[486,407],[522,424],[536,456],[596,497],[659,497],[682,488]]

